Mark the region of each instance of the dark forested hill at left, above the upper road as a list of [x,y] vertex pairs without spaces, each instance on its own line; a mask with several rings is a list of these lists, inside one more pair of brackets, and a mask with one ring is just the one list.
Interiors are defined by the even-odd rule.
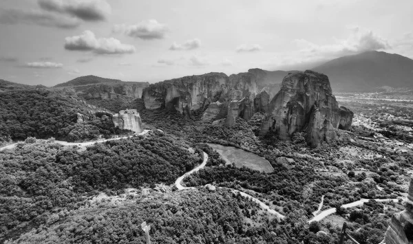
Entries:
[[[84,120],[77,123],[78,118]],[[97,112],[84,101],[47,89],[6,91],[0,96],[0,144],[27,137],[89,140],[120,133],[112,114]]]

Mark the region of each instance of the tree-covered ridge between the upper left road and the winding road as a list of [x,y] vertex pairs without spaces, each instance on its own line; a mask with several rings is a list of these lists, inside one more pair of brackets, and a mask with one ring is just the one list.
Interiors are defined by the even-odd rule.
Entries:
[[99,191],[171,184],[199,162],[200,151],[191,153],[160,132],[85,151],[29,137],[14,151],[0,152],[0,240],[40,225],[51,210],[77,209]]

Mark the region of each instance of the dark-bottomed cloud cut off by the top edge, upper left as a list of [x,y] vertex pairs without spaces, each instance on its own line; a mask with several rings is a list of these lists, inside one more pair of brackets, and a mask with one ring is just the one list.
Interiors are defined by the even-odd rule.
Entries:
[[39,0],[40,8],[49,12],[75,16],[83,21],[103,21],[112,8],[103,0]]

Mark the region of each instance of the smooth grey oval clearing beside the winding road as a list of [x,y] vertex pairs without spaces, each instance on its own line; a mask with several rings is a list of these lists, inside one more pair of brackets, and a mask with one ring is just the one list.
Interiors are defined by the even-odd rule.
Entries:
[[253,153],[248,153],[242,149],[235,148],[233,146],[222,146],[220,144],[208,144],[215,151],[220,153],[222,159],[226,164],[235,164],[236,167],[251,168],[253,170],[264,171],[265,173],[271,173],[274,171],[273,166],[266,159],[257,156]]

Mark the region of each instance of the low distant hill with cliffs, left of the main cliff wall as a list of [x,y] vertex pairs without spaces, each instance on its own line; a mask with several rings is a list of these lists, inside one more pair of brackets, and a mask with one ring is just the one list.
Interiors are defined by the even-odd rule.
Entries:
[[54,86],[54,89],[72,89],[85,100],[111,98],[141,98],[149,82],[125,82],[98,76],[81,76]]

